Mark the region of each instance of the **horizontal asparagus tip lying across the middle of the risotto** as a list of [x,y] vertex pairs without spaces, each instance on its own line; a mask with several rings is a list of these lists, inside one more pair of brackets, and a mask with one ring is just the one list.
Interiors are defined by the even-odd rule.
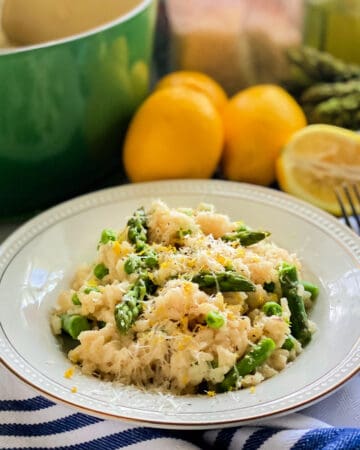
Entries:
[[191,279],[200,289],[216,288],[222,292],[254,292],[256,287],[252,281],[236,272],[200,272]]

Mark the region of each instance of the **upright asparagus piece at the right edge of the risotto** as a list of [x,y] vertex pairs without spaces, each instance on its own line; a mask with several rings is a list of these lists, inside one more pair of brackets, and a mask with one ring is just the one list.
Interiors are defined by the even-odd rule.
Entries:
[[279,267],[279,280],[282,294],[287,298],[291,313],[291,333],[300,341],[302,346],[305,346],[311,340],[311,332],[308,326],[304,300],[298,294],[300,282],[296,267],[292,264],[282,263]]

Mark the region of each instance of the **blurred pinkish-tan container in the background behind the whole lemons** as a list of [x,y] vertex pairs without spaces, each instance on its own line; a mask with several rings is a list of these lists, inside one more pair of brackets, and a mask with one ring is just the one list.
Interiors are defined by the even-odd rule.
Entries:
[[167,0],[174,69],[199,70],[229,94],[278,82],[301,41],[300,0]]

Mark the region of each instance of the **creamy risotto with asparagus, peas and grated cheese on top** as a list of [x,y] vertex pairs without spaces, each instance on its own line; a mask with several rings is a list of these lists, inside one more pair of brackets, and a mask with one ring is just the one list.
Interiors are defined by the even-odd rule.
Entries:
[[174,394],[254,386],[311,340],[318,288],[269,233],[211,205],[135,211],[103,230],[51,316],[85,374]]

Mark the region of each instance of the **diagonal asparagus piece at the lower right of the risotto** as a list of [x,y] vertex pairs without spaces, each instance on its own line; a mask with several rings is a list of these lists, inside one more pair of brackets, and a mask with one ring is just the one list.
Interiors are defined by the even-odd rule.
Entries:
[[275,342],[271,338],[263,338],[225,375],[216,386],[217,392],[228,392],[236,387],[240,377],[249,375],[263,364],[275,350]]

